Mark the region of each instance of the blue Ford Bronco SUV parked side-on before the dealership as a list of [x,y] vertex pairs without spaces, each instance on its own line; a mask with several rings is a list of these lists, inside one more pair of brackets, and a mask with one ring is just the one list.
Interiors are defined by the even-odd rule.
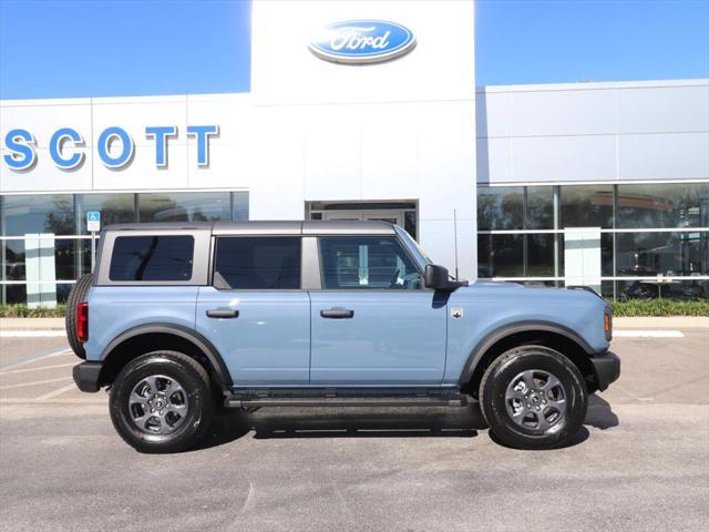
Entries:
[[83,391],[140,451],[217,408],[480,403],[504,444],[563,444],[620,372],[592,290],[453,280],[383,222],[106,227],[68,301]]

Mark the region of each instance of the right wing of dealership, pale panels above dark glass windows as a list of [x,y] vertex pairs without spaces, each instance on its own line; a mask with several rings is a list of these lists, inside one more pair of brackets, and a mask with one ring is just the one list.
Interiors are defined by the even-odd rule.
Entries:
[[481,278],[709,298],[709,80],[480,88]]

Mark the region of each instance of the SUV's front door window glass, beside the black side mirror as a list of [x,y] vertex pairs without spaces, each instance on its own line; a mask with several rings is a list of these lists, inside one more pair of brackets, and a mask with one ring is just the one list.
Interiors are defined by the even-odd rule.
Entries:
[[325,289],[409,289],[422,287],[421,274],[395,237],[320,238]]

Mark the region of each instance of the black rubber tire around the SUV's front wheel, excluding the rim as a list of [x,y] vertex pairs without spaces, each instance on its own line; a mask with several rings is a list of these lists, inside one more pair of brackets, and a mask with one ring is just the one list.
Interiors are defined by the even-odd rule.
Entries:
[[[505,396],[508,387],[520,374],[530,370],[551,374],[561,381],[563,388],[565,412],[545,430],[521,426],[520,418],[515,421],[507,408],[510,399]],[[479,397],[493,434],[503,444],[515,449],[553,449],[563,446],[580,429],[588,408],[588,392],[578,368],[561,352],[544,346],[521,346],[502,354],[485,371]],[[531,419],[534,420],[534,413]]]

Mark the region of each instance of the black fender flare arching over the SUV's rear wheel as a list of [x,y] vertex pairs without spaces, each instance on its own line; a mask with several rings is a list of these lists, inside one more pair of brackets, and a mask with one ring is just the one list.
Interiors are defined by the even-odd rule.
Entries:
[[109,342],[101,354],[100,386],[113,382],[129,361],[156,350],[174,350],[196,359],[219,390],[233,385],[222,356],[203,335],[176,324],[147,324],[125,330]]

